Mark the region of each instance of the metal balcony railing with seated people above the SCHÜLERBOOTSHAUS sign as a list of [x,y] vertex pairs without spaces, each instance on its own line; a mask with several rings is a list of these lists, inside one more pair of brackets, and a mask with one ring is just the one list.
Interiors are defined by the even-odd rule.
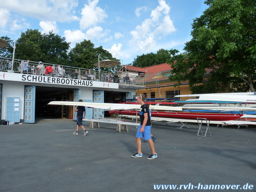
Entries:
[[[24,61],[26,62],[26,61]],[[0,71],[10,73],[24,73],[38,76],[52,76],[61,78],[84,79],[90,81],[102,81],[119,83],[124,86],[145,86],[145,77],[133,76],[122,73],[98,71],[93,69],[82,69],[71,66],[62,66],[55,64],[46,64],[39,62],[29,62],[29,68],[26,68],[23,61],[0,57]]]

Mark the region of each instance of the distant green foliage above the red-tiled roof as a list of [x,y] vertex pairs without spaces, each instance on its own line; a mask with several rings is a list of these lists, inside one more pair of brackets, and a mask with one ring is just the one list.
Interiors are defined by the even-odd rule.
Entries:
[[137,56],[137,58],[133,61],[133,66],[137,67],[147,67],[154,66],[158,64],[166,63],[168,59],[170,59],[171,54],[168,50],[160,49],[156,53],[147,53],[146,55]]

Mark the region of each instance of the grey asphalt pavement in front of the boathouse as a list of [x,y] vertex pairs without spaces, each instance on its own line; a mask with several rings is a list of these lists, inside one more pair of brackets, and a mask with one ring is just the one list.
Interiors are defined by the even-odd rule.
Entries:
[[218,191],[209,185],[256,191],[256,128],[214,125],[211,137],[198,137],[196,123],[177,129],[182,124],[156,122],[158,158],[149,160],[148,143],[142,143],[142,158],[131,157],[135,127],[119,133],[114,124],[84,125],[86,136],[81,129],[73,135],[76,121],[66,119],[0,125],[0,191],[150,192],[175,185],[171,191]]

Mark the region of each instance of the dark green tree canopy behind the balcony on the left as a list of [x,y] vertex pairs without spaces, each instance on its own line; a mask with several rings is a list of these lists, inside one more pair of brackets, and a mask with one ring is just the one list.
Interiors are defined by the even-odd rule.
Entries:
[[[7,36],[2,37],[9,40]],[[12,43],[12,42],[9,42]],[[110,59],[118,61],[112,57],[111,53],[104,50],[102,46],[96,47],[90,40],[83,40],[76,43],[75,47],[69,49],[69,44],[65,38],[49,32],[42,34],[38,29],[28,29],[21,33],[21,37],[17,40],[15,59],[41,61],[43,63],[60,64],[66,66],[74,66],[85,69],[98,69],[94,66],[100,60]],[[6,47],[1,49],[0,57],[12,57],[13,48]],[[111,69],[101,69],[110,71]]]

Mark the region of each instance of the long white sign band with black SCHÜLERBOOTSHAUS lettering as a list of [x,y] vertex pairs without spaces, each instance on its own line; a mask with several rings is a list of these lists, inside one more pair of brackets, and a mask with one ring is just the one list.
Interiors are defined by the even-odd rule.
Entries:
[[54,85],[69,85],[82,87],[112,88],[118,89],[118,83],[108,83],[101,81],[90,81],[83,79],[61,78],[51,76],[39,76],[31,74],[8,73],[0,71],[0,80],[19,81],[28,83],[46,83]]

